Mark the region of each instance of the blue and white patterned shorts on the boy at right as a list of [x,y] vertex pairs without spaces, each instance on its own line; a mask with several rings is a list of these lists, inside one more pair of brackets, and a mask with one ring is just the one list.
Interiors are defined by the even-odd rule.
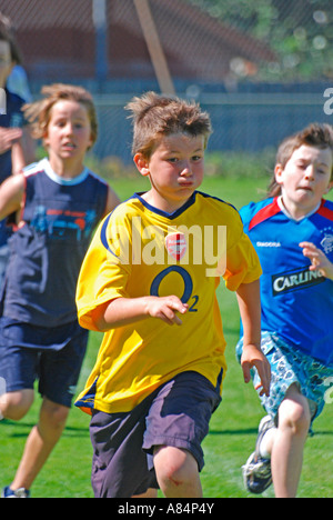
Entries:
[[[271,364],[272,382],[270,397],[260,397],[266,412],[276,421],[278,411],[287,389],[296,383],[310,404],[312,420],[322,411],[329,382],[333,379],[333,368],[325,367],[320,361],[290,347],[276,333],[262,332],[261,349]],[[236,346],[236,357],[241,361],[243,340]],[[254,388],[260,384],[256,369],[252,370]],[[258,393],[260,390],[258,391]]]

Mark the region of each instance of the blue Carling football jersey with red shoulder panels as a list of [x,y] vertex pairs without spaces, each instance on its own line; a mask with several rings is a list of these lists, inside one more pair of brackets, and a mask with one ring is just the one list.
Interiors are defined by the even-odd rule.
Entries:
[[280,198],[251,203],[241,210],[262,264],[262,329],[324,364],[333,363],[333,281],[319,271],[299,243],[313,242],[333,262],[333,203],[323,200],[295,221]]

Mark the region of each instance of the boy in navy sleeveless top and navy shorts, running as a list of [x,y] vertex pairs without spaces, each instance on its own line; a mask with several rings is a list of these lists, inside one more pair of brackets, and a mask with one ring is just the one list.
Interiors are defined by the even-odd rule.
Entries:
[[0,413],[26,416],[39,379],[43,398],[38,426],[13,482],[3,497],[28,497],[29,489],[60,439],[71,407],[88,334],[77,320],[79,270],[98,222],[119,200],[84,168],[97,139],[91,96],[81,88],[44,87],[44,99],[26,114],[49,158],[0,189],[0,218],[12,216],[10,260],[1,298]]

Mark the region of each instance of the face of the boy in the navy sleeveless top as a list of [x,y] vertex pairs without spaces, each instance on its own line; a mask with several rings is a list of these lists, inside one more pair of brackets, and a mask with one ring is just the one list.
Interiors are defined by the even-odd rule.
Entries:
[[58,101],[51,109],[44,144],[50,159],[81,163],[92,144],[87,108],[72,100]]

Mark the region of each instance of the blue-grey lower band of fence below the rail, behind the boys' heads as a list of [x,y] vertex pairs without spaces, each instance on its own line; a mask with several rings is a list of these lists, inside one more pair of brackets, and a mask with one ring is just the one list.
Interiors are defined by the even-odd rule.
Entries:
[[[213,134],[209,151],[258,152],[276,148],[284,137],[310,122],[332,124],[333,93],[325,98],[325,92],[329,96],[326,84],[312,87],[313,92],[309,93],[196,92],[195,99],[212,118]],[[191,97],[191,90],[193,88],[190,86],[180,94]],[[100,133],[93,151],[98,157],[120,157],[125,163],[131,161],[131,127],[123,109],[130,98],[130,93],[95,97]]]

